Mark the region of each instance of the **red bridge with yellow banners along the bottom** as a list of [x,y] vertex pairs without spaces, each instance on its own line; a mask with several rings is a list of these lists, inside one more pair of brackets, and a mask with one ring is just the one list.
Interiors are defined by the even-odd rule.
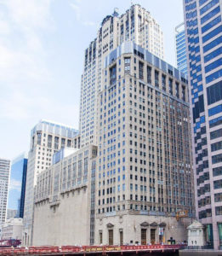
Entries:
[[[184,245],[142,245],[142,246],[61,246],[61,247],[5,247],[0,255],[178,255]],[[175,253],[175,254],[174,254]]]

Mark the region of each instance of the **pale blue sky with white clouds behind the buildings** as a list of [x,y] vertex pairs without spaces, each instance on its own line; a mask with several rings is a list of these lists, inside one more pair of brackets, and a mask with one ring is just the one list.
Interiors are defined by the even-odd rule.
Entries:
[[78,129],[84,49],[106,15],[131,3],[160,24],[165,61],[175,66],[182,0],[0,0],[0,157],[27,152],[40,119]]

